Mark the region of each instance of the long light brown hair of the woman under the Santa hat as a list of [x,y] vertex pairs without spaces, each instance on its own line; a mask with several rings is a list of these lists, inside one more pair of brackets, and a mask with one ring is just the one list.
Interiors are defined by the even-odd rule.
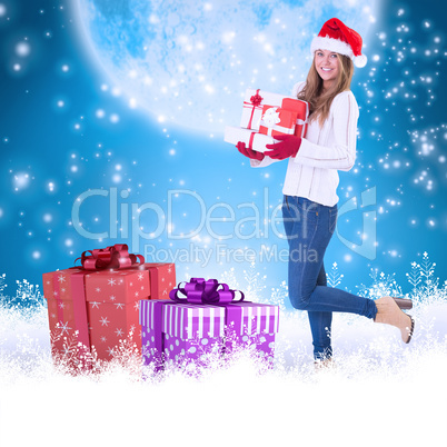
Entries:
[[340,63],[338,64],[338,76],[332,82],[332,86],[328,90],[322,91],[322,79],[315,68],[314,56],[312,64],[307,74],[306,86],[297,96],[298,99],[309,102],[309,120],[312,121],[318,119],[320,126],[322,126],[329,116],[329,109],[334,98],[338,93],[350,89],[350,82],[354,74],[352,60],[345,54],[336,54]]

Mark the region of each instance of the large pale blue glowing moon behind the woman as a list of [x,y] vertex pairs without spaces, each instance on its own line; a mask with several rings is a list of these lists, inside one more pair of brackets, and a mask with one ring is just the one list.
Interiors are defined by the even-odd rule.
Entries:
[[248,87],[289,95],[331,17],[367,43],[379,2],[73,1],[92,60],[113,87],[159,122],[208,133],[238,126]]

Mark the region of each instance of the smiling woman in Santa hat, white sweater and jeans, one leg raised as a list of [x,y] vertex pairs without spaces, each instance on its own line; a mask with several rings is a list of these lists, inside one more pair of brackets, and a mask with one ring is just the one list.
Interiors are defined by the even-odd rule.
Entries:
[[[284,185],[282,216],[289,242],[289,297],[296,309],[307,310],[317,366],[330,365],[332,312],[351,312],[396,326],[409,342],[414,320],[400,308],[410,300],[358,297],[327,287],[324,255],[337,221],[337,170],[348,171],[356,158],[358,106],[349,90],[357,67],[366,64],[361,37],[340,20],[328,20],[311,42],[314,61],[306,82],[294,96],[310,105],[306,138],[276,137],[264,153],[238,142],[252,167],[289,159]],[[354,62],[352,62],[354,61]]]

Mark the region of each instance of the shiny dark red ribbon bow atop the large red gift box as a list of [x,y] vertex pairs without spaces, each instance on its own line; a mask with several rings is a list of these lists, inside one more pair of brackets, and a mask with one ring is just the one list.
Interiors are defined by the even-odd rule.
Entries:
[[[91,254],[87,256],[86,254]],[[86,270],[122,269],[145,264],[142,255],[129,254],[127,244],[83,251],[80,258]]]

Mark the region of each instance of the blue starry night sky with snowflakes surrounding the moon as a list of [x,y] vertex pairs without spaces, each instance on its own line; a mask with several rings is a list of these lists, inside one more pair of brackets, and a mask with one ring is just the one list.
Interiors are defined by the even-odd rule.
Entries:
[[[378,246],[375,259],[367,259],[335,235],[325,264],[330,270],[337,262],[344,274],[340,287],[354,292],[370,282],[371,268],[395,274],[409,291],[405,275],[425,251],[436,262],[437,276],[446,278],[445,14],[443,2],[384,1],[368,40],[369,63],[356,71],[352,81],[360,106],[357,170],[340,172],[339,207],[352,197],[360,203],[361,192],[376,188],[377,203],[365,211],[377,215]],[[131,203],[152,203],[167,215],[169,191],[176,189],[195,191],[196,197],[180,192],[173,198],[173,235],[199,225],[198,196],[207,210],[228,203],[238,220],[254,216],[250,208],[238,205],[252,202],[261,210],[260,224],[267,200],[267,219],[271,217],[282,200],[285,162],[250,169],[221,135],[210,138],[165,127],[130,109],[122,98],[101,88],[105,74],[91,63],[76,27],[67,1],[0,0],[0,274],[9,285],[23,278],[40,284],[42,272],[72,266],[83,250],[117,242],[131,246]],[[31,51],[20,42],[29,42]],[[89,189],[102,189],[110,197],[110,188],[118,191],[120,225],[121,210],[129,211],[125,212],[128,237],[86,239],[72,226],[73,202]],[[122,190],[128,197],[119,196]],[[80,215],[83,228],[109,231],[109,197],[86,200]],[[361,212],[340,216],[337,227],[356,245],[361,244]],[[220,207],[212,216],[228,211]],[[156,231],[158,224],[153,211],[141,213],[145,232]],[[235,224],[212,228],[231,234]],[[282,231],[280,225],[278,229]],[[254,222],[248,221],[242,234],[252,231]],[[262,244],[286,249],[271,227],[268,236],[247,240],[217,241],[211,236],[203,228],[195,239],[172,239],[165,228],[133,248],[145,254],[145,245],[149,246],[149,252],[158,254],[156,260],[183,256],[173,259],[179,279],[219,278],[234,268],[240,282],[250,262],[239,262],[231,250],[258,251]],[[218,244],[226,244],[228,260],[216,260]],[[191,247],[211,252],[212,261],[195,262],[187,256]],[[281,260],[257,261],[256,270],[265,276],[267,290],[287,279],[287,264]]]

